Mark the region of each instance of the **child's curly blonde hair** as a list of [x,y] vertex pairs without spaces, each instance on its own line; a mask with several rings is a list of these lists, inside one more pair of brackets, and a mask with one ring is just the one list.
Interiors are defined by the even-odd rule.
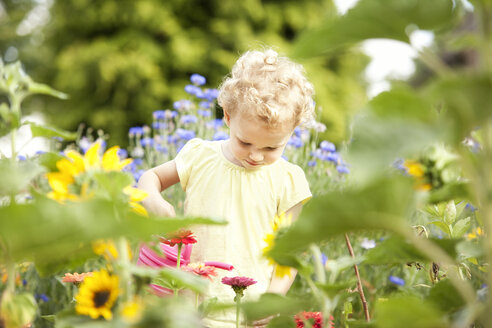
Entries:
[[268,126],[312,121],[314,89],[300,64],[272,49],[248,51],[220,86],[218,103],[230,115],[251,115]]

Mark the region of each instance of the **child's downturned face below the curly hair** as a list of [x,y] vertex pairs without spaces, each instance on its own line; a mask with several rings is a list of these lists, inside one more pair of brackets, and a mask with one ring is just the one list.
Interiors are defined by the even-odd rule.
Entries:
[[226,112],[224,119],[231,136],[229,155],[236,165],[247,169],[257,169],[279,159],[294,131],[290,125],[271,128],[259,119],[238,113],[230,116]]

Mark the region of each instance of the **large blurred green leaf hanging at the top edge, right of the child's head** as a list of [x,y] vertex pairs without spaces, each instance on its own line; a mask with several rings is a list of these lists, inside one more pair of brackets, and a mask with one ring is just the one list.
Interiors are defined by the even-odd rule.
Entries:
[[302,35],[292,56],[312,57],[366,39],[409,41],[408,28],[439,29],[452,22],[451,0],[360,0],[338,20]]

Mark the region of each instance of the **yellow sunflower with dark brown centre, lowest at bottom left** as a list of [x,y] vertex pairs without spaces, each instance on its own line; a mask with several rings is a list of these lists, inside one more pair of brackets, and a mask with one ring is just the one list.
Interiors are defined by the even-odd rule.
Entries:
[[118,276],[110,275],[106,270],[94,272],[80,285],[79,293],[75,296],[75,311],[92,319],[102,316],[110,320],[113,317],[111,308],[119,294],[118,285]]

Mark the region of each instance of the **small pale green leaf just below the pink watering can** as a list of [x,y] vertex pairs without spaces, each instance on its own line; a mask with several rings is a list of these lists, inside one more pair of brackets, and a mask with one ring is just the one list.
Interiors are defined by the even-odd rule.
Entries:
[[158,277],[153,280],[153,283],[166,287],[172,284],[178,289],[188,288],[195,293],[204,293],[208,285],[207,279],[190,272],[178,270],[177,268],[164,268],[160,270]]

